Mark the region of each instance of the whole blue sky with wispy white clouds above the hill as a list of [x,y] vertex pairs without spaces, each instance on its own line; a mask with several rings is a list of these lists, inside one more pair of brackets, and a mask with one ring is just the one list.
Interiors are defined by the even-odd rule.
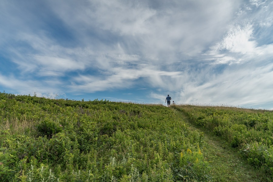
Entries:
[[271,0],[1,0],[0,92],[273,110]]

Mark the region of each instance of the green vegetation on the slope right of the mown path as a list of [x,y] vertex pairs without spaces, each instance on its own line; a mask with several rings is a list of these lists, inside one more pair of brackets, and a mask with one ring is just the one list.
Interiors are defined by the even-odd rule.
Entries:
[[195,125],[226,141],[263,180],[273,179],[273,112],[232,107],[175,106]]

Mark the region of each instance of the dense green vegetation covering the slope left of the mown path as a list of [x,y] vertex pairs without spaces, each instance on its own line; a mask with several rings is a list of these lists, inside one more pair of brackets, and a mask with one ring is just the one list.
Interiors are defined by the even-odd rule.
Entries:
[[208,181],[203,135],[161,105],[0,93],[1,181]]

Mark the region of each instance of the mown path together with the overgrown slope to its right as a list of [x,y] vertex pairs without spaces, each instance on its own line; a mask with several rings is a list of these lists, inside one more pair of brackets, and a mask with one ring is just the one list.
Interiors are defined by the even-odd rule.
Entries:
[[217,181],[272,181],[273,112],[231,107],[174,106],[204,132],[204,156]]

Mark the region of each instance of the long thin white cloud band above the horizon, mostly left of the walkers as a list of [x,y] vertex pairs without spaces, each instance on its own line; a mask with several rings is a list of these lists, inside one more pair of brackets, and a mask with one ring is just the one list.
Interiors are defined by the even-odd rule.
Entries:
[[[113,68],[109,76],[98,78],[96,76],[79,76],[74,78],[74,82],[69,86],[72,90],[82,90],[84,92],[96,92],[109,90],[114,88],[130,88],[132,84],[139,84],[137,79],[145,78],[146,81],[142,85],[161,87],[165,82],[164,76],[167,78],[177,77],[181,72],[166,72],[154,70],[152,67],[143,65],[139,69]],[[73,83],[74,83],[73,82]],[[141,85],[140,84],[140,85]]]

